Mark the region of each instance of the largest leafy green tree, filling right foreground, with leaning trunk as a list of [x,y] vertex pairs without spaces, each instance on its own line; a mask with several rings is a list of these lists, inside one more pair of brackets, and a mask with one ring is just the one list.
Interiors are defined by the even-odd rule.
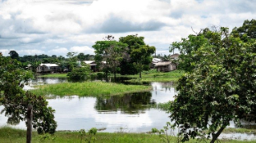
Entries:
[[230,121],[238,125],[241,119],[256,121],[255,39],[243,42],[221,27],[189,35],[177,44],[186,59],[192,59],[170,106],[170,118],[180,127],[182,141],[201,133],[211,135],[213,143]]

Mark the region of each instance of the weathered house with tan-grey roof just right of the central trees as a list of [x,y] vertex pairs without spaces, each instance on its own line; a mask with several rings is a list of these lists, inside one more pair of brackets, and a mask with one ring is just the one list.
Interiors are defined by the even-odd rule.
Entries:
[[177,65],[173,62],[158,62],[155,65],[157,71],[169,72],[172,70],[177,70]]

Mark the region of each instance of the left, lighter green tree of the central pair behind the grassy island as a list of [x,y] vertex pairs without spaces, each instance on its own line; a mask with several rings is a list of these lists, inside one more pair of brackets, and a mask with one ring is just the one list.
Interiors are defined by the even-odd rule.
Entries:
[[92,47],[95,49],[95,62],[99,65],[103,61],[106,61],[104,72],[107,81],[109,71],[114,73],[116,80],[116,69],[125,58],[127,44],[116,41],[98,41]]

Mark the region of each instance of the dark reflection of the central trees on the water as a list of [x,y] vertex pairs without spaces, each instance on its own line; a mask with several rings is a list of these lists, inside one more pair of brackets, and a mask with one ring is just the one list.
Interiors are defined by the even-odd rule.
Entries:
[[123,97],[112,96],[108,98],[97,97],[95,109],[98,111],[117,111],[121,113],[143,113],[148,109],[148,104],[151,104],[152,93],[129,93]]

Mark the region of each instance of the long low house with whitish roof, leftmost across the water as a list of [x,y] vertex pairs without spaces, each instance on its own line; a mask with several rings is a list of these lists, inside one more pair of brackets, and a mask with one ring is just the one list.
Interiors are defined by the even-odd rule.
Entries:
[[40,64],[36,68],[37,73],[58,73],[61,68],[57,64]]

